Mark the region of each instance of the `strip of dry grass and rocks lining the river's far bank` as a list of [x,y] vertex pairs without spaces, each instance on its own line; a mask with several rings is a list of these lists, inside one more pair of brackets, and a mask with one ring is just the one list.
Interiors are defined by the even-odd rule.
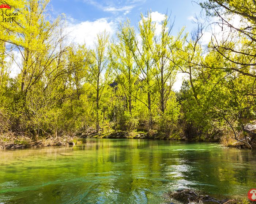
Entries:
[[24,134],[8,133],[0,135],[0,149],[24,149],[24,148],[41,148],[47,146],[68,146],[80,144],[85,139],[89,138],[109,138],[109,139],[148,139],[148,140],[177,140],[177,141],[200,141],[200,142],[217,142],[226,147],[243,148],[244,144],[236,142],[232,138],[226,137],[166,137],[161,134],[148,135],[147,132],[133,131],[133,132],[105,132],[105,133],[89,133],[80,136],[48,136],[45,138],[38,138],[33,140]]

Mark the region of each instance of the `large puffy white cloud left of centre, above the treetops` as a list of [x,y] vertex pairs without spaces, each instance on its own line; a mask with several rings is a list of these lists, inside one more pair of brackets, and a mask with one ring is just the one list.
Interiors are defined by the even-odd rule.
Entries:
[[109,21],[106,18],[97,19],[95,21],[83,21],[78,24],[70,24],[67,32],[70,36],[70,41],[83,44],[87,47],[93,48],[97,34],[99,32],[106,32],[112,36],[116,32],[117,23]]

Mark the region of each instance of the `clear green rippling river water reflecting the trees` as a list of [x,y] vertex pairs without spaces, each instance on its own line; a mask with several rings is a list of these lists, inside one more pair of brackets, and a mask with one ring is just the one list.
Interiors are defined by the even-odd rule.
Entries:
[[95,139],[0,151],[1,204],[156,204],[179,188],[246,197],[255,187],[256,152],[210,143]]

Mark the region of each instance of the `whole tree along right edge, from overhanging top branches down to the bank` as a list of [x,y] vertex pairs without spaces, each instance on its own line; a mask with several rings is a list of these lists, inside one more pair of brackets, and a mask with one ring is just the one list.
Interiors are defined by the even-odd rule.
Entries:
[[[251,109],[251,100],[254,100],[250,96],[255,95],[254,84],[256,81],[255,1],[211,0],[200,3],[200,5],[206,10],[207,16],[216,16],[219,19],[213,24],[219,26],[221,31],[219,33],[212,33],[211,42],[208,47],[216,52],[215,55],[223,63],[217,63],[220,65],[217,66],[217,64],[213,65],[206,61],[203,67],[220,69],[225,73],[223,78],[217,83],[226,81],[228,86],[226,94],[230,93],[229,97],[232,98],[232,103],[231,99],[227,99],[227,101],[230,101],[227,103],[227,106],[220,108],[220,103],[218,102],[215,108],[219,111],[219,116],[231,127],[234,138],[239,141],[240,139],[235,131],[236,128],[233,127],[234,125],[230,121],[236,121],[238,127],[244,129],[242,120],[249,117],[249,114],[246,116],[245,110]],[[239,19],[239,24],[234,19]],[[251,83],[251,80],[253,83]],[[249,86],[246,86],[246,89],[242,89],[242,86],[241,89],[236,89],[234,88],[236,81],[249,82]],[[249,93],[248,90],[250,90]],[[242,102],[245,98],[248,100],[247,103]],[[253,111],[253,109],[251,110]],[[248,142],[242,143],[248,145]]]

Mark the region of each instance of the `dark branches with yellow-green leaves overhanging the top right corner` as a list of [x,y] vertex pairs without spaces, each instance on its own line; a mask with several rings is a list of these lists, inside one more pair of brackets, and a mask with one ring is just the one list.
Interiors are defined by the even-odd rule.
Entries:
[[[208,16],[216,16],[214,22],[221,27],[220,34],[213,33],[210,48],[217,51],[231,64],[230,69],[256,78],[255,62],[255,1],[211,0],[200,3]],[[235,24],[232,19],[239,19]],[[221,36],[219,36],[221,35]]]

